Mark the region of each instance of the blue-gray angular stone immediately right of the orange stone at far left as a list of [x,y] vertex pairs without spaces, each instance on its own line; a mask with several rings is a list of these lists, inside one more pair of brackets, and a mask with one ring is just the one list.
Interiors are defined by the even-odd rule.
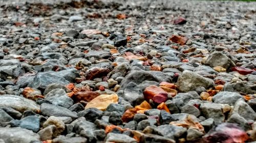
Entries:
[[74,104],[73,100],[68,97],[63,89],[54,89],[50,91],[45,95],[45,99],[50,101],[53,105],[59,105],[66,108],[69,108]]

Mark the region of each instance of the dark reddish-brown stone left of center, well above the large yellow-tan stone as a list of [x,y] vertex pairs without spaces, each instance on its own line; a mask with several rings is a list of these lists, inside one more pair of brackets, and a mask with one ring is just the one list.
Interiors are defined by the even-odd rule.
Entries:
[[91,68],[86,71],[86,79],[92,80],[96,77],[106,76],[109,72],[110,70],[106,68]]

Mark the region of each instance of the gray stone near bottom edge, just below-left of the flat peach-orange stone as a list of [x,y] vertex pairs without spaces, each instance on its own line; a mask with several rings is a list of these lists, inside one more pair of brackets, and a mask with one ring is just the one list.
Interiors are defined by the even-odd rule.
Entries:
[[164,137],[167,137],[170,139],[178,139],[184,133],[186,133],[187,130],[180,126],[161,125],[157,127],[157,131]]

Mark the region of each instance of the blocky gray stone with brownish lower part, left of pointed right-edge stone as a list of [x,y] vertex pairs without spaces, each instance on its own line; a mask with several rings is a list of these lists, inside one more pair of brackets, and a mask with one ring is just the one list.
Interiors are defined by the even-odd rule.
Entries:
[[201,108],[201,113],[208,118],[214,119],[214,122],[216,124],[220,124],[224,122],[225,120],[225,115],[222,112],[222,106],[218,103],[203,103],[200,106]]

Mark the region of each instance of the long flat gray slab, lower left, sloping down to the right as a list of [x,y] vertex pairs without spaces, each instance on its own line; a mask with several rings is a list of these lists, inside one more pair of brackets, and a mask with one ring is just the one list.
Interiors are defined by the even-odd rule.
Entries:
[[55,116],[55,117],[71,117],[72,119],[77,118],[77,114],[70,111],[65,107],[58,105],[52,105],[48,103],[42,103],[40,105],[40,110],[42,115],[45,116]]

